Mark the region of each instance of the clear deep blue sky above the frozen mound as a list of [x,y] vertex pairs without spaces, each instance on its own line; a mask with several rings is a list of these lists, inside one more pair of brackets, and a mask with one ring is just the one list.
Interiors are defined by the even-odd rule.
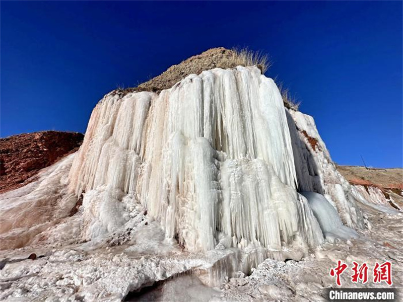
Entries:
[[208,48],[268,52],[339,164],[402,167],[402,2],[1,2],[1,136],[84,132],[117,86]]

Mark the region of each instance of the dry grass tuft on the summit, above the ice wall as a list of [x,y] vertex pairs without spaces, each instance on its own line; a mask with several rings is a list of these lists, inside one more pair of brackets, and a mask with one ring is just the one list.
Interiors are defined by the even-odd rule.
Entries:
[[264,73],[272,65],[268,55],[261,51],[253,51],[249,48],[233,48],[232,51],[233,55],[230,57],[229,67],[256,65],[261,73]]

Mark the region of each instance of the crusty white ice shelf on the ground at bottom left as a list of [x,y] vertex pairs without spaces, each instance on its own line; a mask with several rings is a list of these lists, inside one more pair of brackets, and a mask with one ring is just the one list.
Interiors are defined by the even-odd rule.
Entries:
[[[31,253],[37,255],[35,260],[28,259]],[[207,270],[226,252],[216,254],[182,251],[165,241],[159,225],[140,230],[123,246],[83,243],[3,252],[2,258],[7,258],[0,265],[0,299],[120,301],[130,290],[154,281],[191,269]]]

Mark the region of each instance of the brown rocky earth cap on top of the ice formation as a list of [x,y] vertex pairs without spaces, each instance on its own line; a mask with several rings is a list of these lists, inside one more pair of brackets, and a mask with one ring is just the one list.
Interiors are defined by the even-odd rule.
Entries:
[[177,65],[172,65],[157,77],[140,84],[136,88],[116,89],[114,93],[127,94],[129,92],[160,92],[173,87],[176,83],[186,78],[189,74],[199,74],[204,70],[213,68],[231,68],[239,65],[239,60],[234,59],[237,53],[224,47],[211,48],[201,54],[194,55]]

